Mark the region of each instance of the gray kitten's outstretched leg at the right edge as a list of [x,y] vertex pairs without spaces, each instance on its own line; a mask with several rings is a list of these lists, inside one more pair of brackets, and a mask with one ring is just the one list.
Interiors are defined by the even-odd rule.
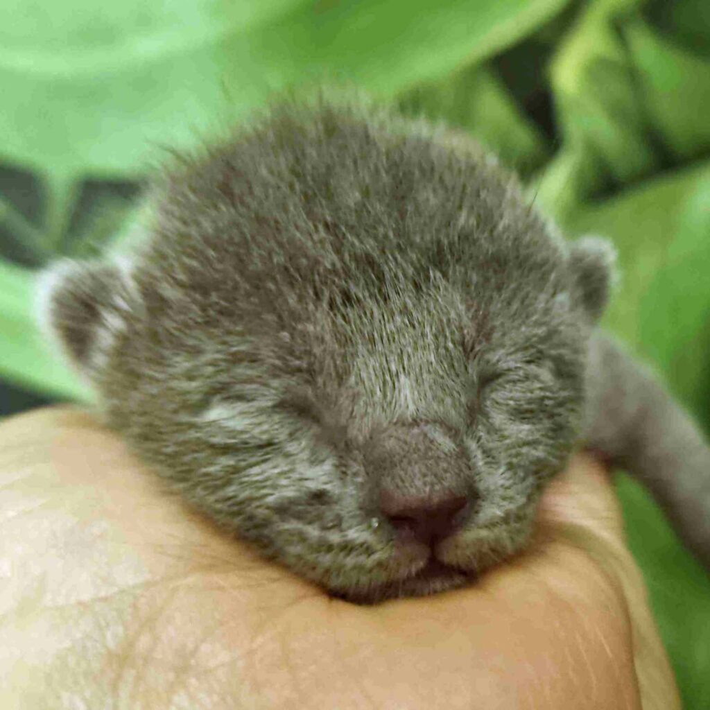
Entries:
[[641,481],[710,569],[710,447],[689,415],[621,347],[592,338],[585,441]]

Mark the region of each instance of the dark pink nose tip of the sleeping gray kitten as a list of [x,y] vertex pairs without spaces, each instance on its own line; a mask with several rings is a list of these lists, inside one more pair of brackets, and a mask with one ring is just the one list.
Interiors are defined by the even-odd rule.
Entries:
[[403,540],[417,540],[431,545],[448,537],[466,518],[466,496],[406,496],[384,489],[380,509]]

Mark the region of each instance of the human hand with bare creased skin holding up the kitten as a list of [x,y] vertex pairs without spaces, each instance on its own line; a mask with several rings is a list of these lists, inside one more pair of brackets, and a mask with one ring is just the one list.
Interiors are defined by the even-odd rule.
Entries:
[[3,708],[679,707],[590,457],[550,485],[528,552],[376,606],[263,561],[81,410],[0,425],[0,520]]

